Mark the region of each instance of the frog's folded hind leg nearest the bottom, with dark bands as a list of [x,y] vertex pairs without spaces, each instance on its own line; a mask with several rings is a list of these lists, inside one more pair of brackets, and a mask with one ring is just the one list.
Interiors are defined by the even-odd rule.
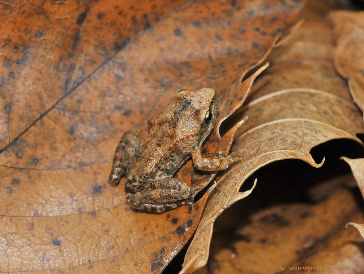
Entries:
[[143,182],[143,190],[127,195],[133,208],[157,213],[192,204],[189,198],[190,187],[173,178]]

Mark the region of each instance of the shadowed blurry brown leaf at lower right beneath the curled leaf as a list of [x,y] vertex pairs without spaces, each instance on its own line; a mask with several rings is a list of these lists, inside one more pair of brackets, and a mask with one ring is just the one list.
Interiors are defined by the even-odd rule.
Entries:
[[[276,163],[274,166],[298,167],[293,163],[287,165],[285,162],[289,161]],[[268,171],[265,175],[271,175],[271,178],[263,180],[265,188],[261,187],[258,180],[253,193],[238,203],[243,207],[234,206],[228,210],[229,214],[223,213],[222,218],[217,220],[209,258],[209,271],[205,268],[199,273],[296,274],[304,271],[310,274],[332,274],[335,273],[334,268],[337,270],[336,273],[343,274],[363,272],[361,236],[355,229],[345,229],[348,220],[359,223],[364,220],[360,204],[352,198],[353,189],[348,187],[349,182],[355,185],[355,180],[348,175],[336,176],[334,180],[315,183],[310,187],[309,180],[315,180],[314,177],[321,172],[319,171],[321,168],[313,170],[313,174],[310,174],[311,172],[307,171],[312,168],[299,166],[301,168],[297,172],[287,170],[285,175],[278,175],[277,171],[281,169],[264,168]],[[304,171],[306,173],[300,173]],[[277,176],[274,176],[274,173]],[[298,193],[282,190],[280,186],[282,181],[277,181],[287,176],[287,182],[283,184],[284,187],[289,187],[292,185],[289,181],[295,180],[295,176],[301,174],[305,174],[306,179],[296,178],[292,183],[298,184],[299,181],[306,184],[306,187],[297,185],[290,189]],[[303,189],[309,189],[306,197],[312,197],[312,194],[323,196],[300,202],[295,199],[290,200],[288,197],[279,197],[283,193],[291,197],[303,195],[299,193],[299,190]],[[275,198],[266,200],[274,195]],[[267,206],[262,206],[265,202],[268,203]],[[221,226],[231,218],[234,223],[238,222],[240,225],[224,228],[228,230],[226,233],[221,230]],[[306,267],[306,270],[299,270],[300,267]],[[320,269],[310,271],[309,267]],[[341,267],[342,272],[340,272]],[[350,271],[349,267],[354,269]]]

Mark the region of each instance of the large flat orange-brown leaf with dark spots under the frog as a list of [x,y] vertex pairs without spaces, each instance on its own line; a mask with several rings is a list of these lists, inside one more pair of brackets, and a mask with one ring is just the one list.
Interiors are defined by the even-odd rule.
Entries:
[[[161,272],[194,233],[207,196],[158,215],[131,210],[123,184],[107,182],[118,139],[130,128],[145,137],[147,120],[178,90],[208,86],[224,99],[301,5],[3,5],[0,271]],[[177,175],[184,182],[190,165]]]

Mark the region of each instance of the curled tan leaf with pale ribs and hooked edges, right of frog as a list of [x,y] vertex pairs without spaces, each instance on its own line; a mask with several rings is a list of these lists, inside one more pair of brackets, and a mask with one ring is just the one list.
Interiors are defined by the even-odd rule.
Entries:
[[362,114],[352,104],[347,83],[328,65],[333,60],[330,23],[322,19],[324,16],[313,18],[289,43],[268,56],[272,66],[254,83],[248,105],[234,115],[236,120],[249,117],[232,146],[244,160],[216,183],[182,273],[193,272],[206,263],[215,219],[245,197],[239,189],[254,171],[283,159],[300,159],[320,167],[323,162],[315,163],[310,154],[315,146],[338,138],[361,144],[355,134],[363,132]]

